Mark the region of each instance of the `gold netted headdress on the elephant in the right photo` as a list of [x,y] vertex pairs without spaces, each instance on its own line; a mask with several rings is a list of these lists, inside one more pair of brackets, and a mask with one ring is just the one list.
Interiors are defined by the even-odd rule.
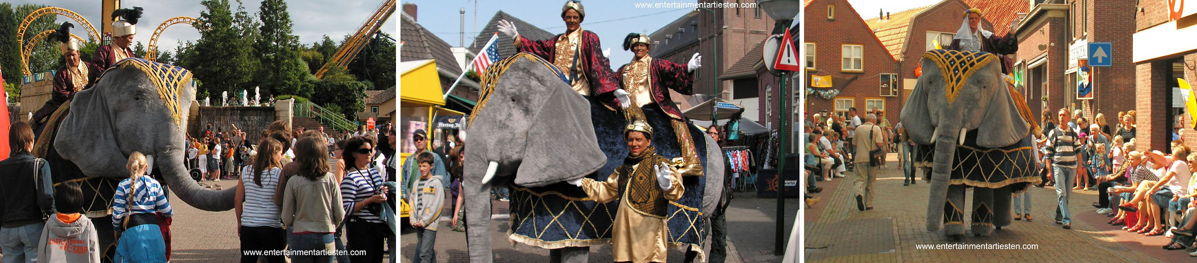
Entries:
[[935,65],[940,66],[940,73],[943,75],[943,94],[947,96],[950,104],[956,100],[960,88],[964,87],[968,78],[977,69],[997,60],[997,56],[990,53],[932,49],[923,54],[923,59],[935,61]]

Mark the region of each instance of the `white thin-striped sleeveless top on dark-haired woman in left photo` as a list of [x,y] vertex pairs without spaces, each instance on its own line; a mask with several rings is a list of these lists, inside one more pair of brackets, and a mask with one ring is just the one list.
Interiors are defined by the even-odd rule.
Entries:
[[279,221],[279,207],[274,206],[274,192],[279,189],[279,175],[282,170],[272,167],[263,170],[261,185],[254,183],[254,166],[241,170],[241,185],[245,188],[245,202],[241,209],[242,226],[282,227]]

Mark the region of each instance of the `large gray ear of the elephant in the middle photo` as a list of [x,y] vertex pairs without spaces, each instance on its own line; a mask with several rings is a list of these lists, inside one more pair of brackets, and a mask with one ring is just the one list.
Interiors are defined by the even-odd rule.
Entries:
[[[553,80],[557,81],[557,80]],[[515,183],[543,186],[594,173],[607,163],[590,122],[590,102],[566,85],[551,85],[531,112]]]

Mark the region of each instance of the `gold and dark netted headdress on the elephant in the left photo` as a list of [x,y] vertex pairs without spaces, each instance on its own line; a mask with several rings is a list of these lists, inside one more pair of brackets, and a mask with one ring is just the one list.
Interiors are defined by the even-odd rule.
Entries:
[[183,91],[186,90],[183,87],[192,82],[190,71],[140,57],[130,57],[117,61],[104,72],[110,72],[122,67],[134,67],[145,72],[146,78],[148,78],[150,82],[152,82],[154,88],[158,90],[158,99],[162,99],[162,103],[166,104],[166,109],[170,110],[170,117],[175,120],[175,124],[183,124],[182,103],[184,102],[180,102],[178,97],[183,94]]

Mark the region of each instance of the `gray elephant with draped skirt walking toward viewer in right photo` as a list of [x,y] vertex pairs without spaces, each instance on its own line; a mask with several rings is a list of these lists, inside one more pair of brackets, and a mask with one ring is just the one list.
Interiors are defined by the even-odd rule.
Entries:
[[[965,234],[965,189],[973,188],[972,232],[989,236],[1013,219],[1010,195],[1040,182],[1029,109],[1008,86],[997,56],[930,50],[905,108],[903,124],[930,170],[926,230]],[[932,159],[934,158],[934,159]]]

